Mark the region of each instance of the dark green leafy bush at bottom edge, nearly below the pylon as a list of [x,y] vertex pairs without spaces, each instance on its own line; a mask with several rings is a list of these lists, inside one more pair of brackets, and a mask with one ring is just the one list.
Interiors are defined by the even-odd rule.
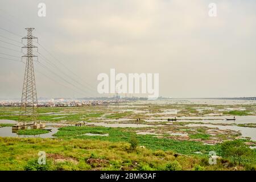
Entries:
[[38,159],[33,159],[27,162],[24,167],[25,171],[51,171],[54,170],[52,167],[51,160],[47,160],[46,164],[39,164]]

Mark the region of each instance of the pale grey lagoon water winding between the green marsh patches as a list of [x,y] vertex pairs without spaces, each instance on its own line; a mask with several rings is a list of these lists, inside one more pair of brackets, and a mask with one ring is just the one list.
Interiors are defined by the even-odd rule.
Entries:
[[[147,113],[147,110],[141,110],[139,108],[146,107],[147,104],[157,104],[157,105],[170,105],[170,104],[205,104],[205,107],[195,107],[198,111],[202,110],[213,110],[214,107],[210,105],[227,105],[225,109],[222,110],[244,110],[241,108],[232,108],[232,105],[251,105],[256,104],[256,100],[221,100],[221,99],[169,99],[169,100],[155,100],[155,101],[137,101],[137,102],[128,102],[120,105],[110,105],[109,109],[117,109],[118,112],[126,112],[130,111],[131,113],[144,115],[145,118],[142,120],[148,123],[137,124],[134,123],[133,118],[106,118],[106,115],[111,113],[106,113],[101,117],[97,118],[98,122],[85,122],[86,125],[94,125],[94,126],[105,126],[105,127],[159,127],[163,126],[161,122],[167,122],[168,118],[174,118],[176,116],[177,121],[168,122],[167,124],[173,124],[177,122],[193,122],[188,123],[188,127],[196,127],[196,126],[206,126],[206,127],[218,127],[221,130],[234,130],[240,131],[242,137],[250,137],[252,140],[256,140],[256,128],[253,127],[239,127],[235,126],[236,124],[245,124],[245,123],[256,123],[256,115],[248,115],[248,116],[236,116],[236,121],[226,121],[226,118],[233,118],[228,115],[216,115],[214,113],[208,115],[200,115],[200,116],[190,116],[190,117],[178,117],[176,115],[179,110],[175,109],[163,109],[159,113]],[[229,105],[229,106],[228,106]],[[236,107],[236,106],[234,106]],[[253,111],[254,112],[254,111]],[[256,112],[256,111],[255,111]],[[63,111],[59,111],[56,113],[44,113],[48,115],[56,115],[56,118],[65,117],[65,115],[76,114],[76,111],[72,113],[64,113]],[[59,116],[60,115],[60,116]],[[92,120],[93,121],[93,120]],[[110,123],[109,123],[110,122]],[[158,125],[152,125],[150,122],[159,122]],[[200,123],[199,123],[200,122]],[[9,120],[9,119],[0,119],[0,123],[11,123],[15,124],[17,121]],[[203,124],[202,124],[203,123]],[[220,125],[218,125],[220,124]],[[228,124],[229,126],[223,126]],[[232,125],[234,124],[234,125]],[[12,133],[11,127],[2,127],[0,128],[0,137],[42,137],[42,138],[52,138],[52,134],[57,132],[57,127],[61,126],[70,126],[68,123],[56,122],[56,123],[47,123],[48,128],[52,129],[52,132],[48,134],[41,135],[27,135],[20,136],[16,133]],[[57,126],[57,127],[56,127]],[[144,134],[139,133],[139,134]],[[146,133],[145,133],[146,134]]]

